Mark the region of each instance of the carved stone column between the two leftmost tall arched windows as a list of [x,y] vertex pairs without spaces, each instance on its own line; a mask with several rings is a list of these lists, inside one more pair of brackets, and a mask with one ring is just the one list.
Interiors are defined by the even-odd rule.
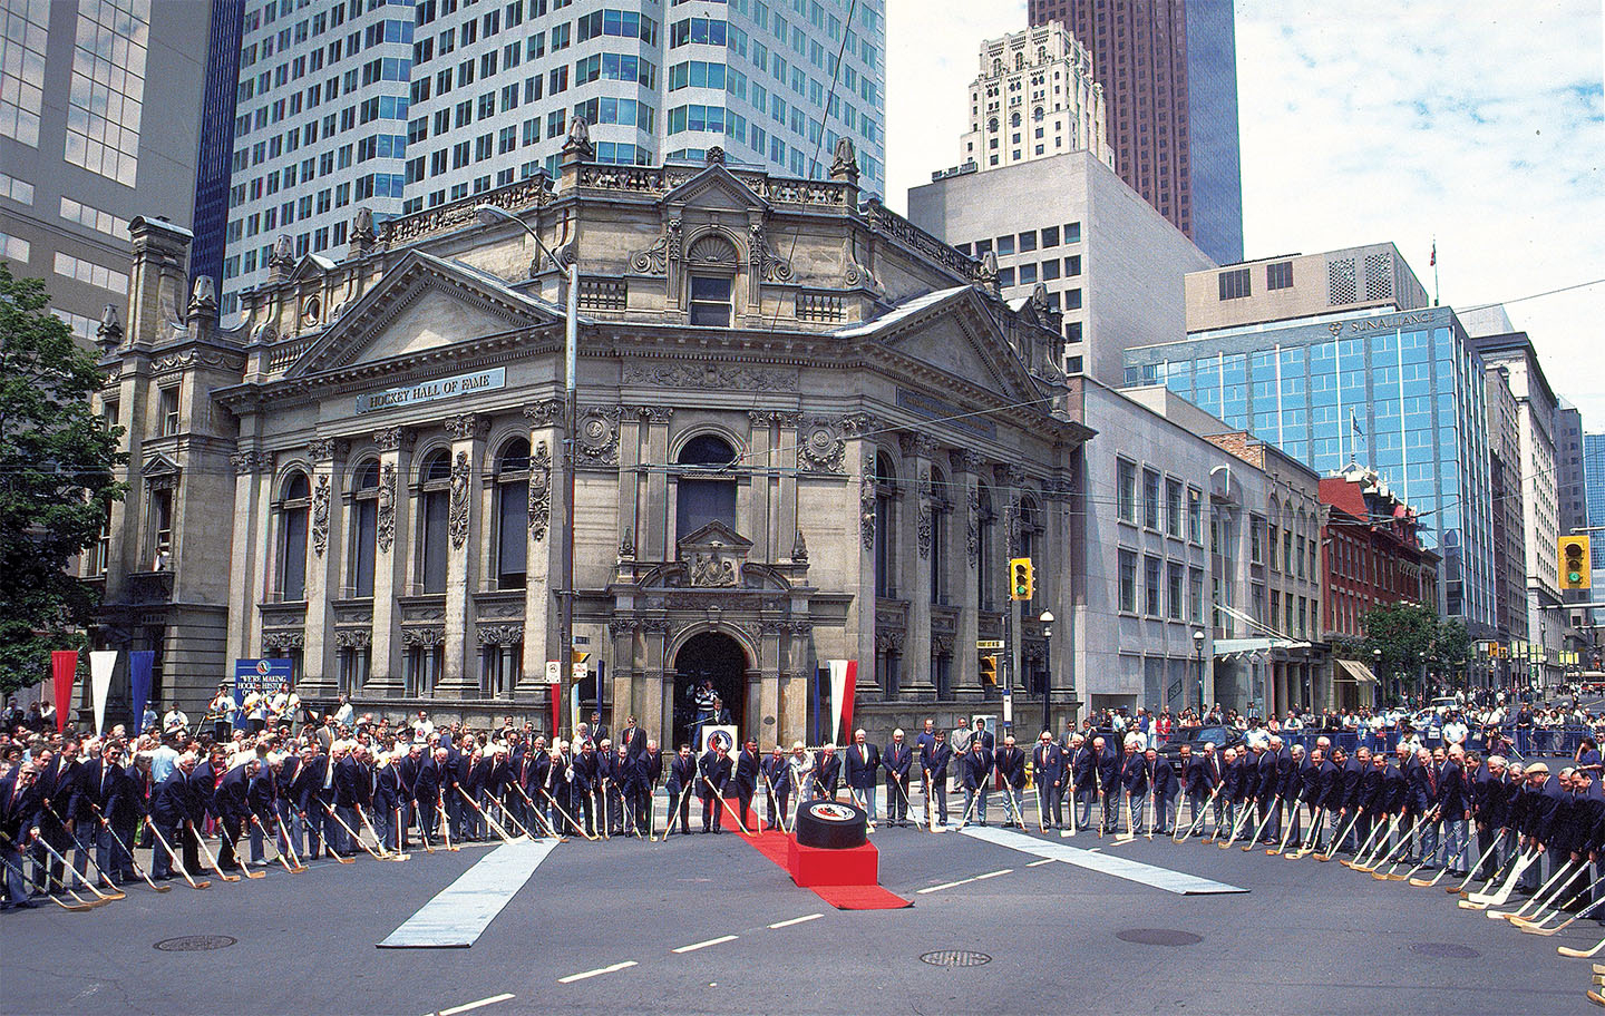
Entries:
[[311,512],[307,526],[307,642],[302,648],[302,695],[329,698],[335,693],[334,600],[340,589],[340,520],[345,512],[345,441],[315,438],[307,445],[311,462]]

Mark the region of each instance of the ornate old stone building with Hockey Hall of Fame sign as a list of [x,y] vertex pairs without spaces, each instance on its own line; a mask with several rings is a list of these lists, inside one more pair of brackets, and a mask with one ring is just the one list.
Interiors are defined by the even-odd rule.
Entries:
[[[307,701],[544,730],[570,525],[586,714],[664,745],[703,681],[766,748],[828,735],[828,660],[859,661],[876,734],[977,711],[1011,551],[1035,560],[1024,616],[1071,613],[1091,432],[1058,316],[860,202],[851,144],[802,181],[717,149],[595,164],[581,125],[557,181],[358,210],[340,262],[281,238],[231,331],[210,279],[185,282],[186,233],[132,234],[96,400],[130,483],[85,568],[95,640],[156,650],[162,708],[199,716],[266,656]],[[579,274],[573,522],[567,284],[533,236]],[[1050,661],[1035,620],[1021,636],[1016,708],[1051,673],[1064,714],[1069,639]]]

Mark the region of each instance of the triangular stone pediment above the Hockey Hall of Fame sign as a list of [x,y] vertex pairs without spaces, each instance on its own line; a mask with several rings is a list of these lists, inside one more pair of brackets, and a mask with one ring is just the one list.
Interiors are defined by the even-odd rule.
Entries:
[[414,356],[560,321],[554,308],[496,276],[411,250],[302,353],[286,377]]

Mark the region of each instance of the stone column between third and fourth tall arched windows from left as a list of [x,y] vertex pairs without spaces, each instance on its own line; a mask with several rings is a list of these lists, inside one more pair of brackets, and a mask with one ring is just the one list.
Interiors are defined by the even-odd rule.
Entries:
[[451,435],[451,501],[446,510],[446,661],[435,693],[440,698],[478,698],[478,639],[473,634],[473,591],[478,587],[477,547],[483,514],[475,510],[473,478],[485,467],[488,421],[462,412],[446,421]]

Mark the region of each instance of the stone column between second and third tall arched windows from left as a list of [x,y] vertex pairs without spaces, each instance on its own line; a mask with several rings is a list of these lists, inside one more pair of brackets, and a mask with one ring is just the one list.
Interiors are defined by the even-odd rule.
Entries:
[[411,498],[408,475],[412,470],[414,435],[403,427],[374,430],[379,449],[379,509],[374,546],[374,639],[368,698],[400,698],[401,668],[406,650],[401,645],[401,605],[406,592],[406,560],[411,539]]

